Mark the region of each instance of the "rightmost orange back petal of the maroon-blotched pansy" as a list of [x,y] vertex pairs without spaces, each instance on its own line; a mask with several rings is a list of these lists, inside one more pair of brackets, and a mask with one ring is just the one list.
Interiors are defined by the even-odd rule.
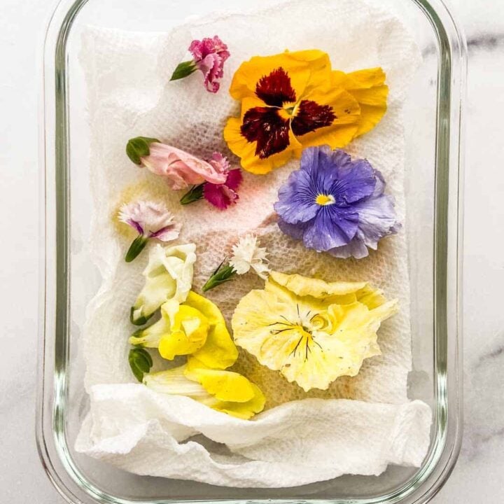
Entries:
[[372,130],[384,116],[388,97],[385,78],[385,72],[379,67],[351,73],[342,71],[332,73],[333,84],[344,87],[360,104],[356,136]]

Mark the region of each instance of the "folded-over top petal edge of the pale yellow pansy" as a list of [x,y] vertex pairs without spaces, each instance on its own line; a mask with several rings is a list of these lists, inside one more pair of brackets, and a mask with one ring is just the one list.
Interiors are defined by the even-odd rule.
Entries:
[[291,290],[298,296],[310,295],[319,298],[353,294],[367,286],[367,282],[326,282],[300,274],[288,275],[275,271],[269,274],[269,278],[281,286],[288,288],[288,290]]

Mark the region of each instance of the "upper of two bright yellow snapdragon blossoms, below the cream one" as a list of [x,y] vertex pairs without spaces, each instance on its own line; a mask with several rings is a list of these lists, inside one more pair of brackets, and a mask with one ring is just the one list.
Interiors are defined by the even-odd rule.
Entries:
[[160,320],[134,332],[130,344],[157,348],[167,360],[190,356],[188,361],[193,365],[212,369],[226,369],[238,358],[221,311],[193,291],[188,293],[185,302],[172,298],[162,304]]

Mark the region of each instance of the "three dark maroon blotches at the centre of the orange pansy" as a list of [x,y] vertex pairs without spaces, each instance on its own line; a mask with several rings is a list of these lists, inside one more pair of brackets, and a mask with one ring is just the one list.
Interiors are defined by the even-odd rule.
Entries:
[[[295,117],[280,115],[284,104],[295,104],[295,90],[288,73],[280,66],[259,79],[255,94],[267,106],[254,107],[246,111],[241,134],[249,142],[256,142],[255,155],[261,159],[285,151],[289,145],[289,131],[300,137],[318,128],[330,126],[336,119],[330,105],[319,105],[312,100],[302,100],[297,106]],[[286,110],[292,113],[291,109]]]

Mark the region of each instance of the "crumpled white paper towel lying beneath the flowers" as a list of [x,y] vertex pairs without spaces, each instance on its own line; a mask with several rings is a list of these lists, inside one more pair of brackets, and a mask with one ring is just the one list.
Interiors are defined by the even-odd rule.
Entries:
[[[173,69],[188,59],[188,43],[214,34],[232,55],[221,92],[204,90],[198,73],[170,83]],[[297,0],[247,15],[193,21],[167,34],[85,30],[81,63],[91,129],[91,253],[103,284],[87,309],[83,353],[90,412],[77,451],[141,475],[241,487],[298,486],[347,473],[379,475],[389,463],[421,464],[429,444],[430,408],[407,398],[411,335],[404,231],[384,239],[369,258],[337,260],[305,250],[276,225],[272,204],[297,160],[267,176],[244,173],[239,204],[221,212],[205,202],[181,207],[180,193],[125,156],[127,140],[140,135],[202,158],[214,151],[229,155],[222,130],[239,110],[227,92],[233,73],[253,55],[286,48],[325,50],[333,68],[344,71],[385,69],[390,87],[386,116],[346,150],[381,170],[404,222],[401,113],[418,55],[392,15],[356,0]],[[237,165],[236,158],[230,159]],[[246,374],[267,397],[267,410],[252,421],[133,384],[127,337],[134,328],[128,314],[142,287],[148,253],[132,264],[124,262],[131,237],[121,234],[114,215],[120,203],[141,197],[165,202],[183,223],[180,240],[197,245],[196,290],[237,236],[254,232],[267,247],[273,269],[328,281],[371,281],[388,298],[398,297],[400,313],[379,331],[382,355],[366,360],[357,377],[342,377],[328,391],[304,393],[241,352],[233,370]],[[248,274],[209,297],[230,321],[239,299],[261,286],[257,276]],[[191,440],[195,435],[214,443]]]

